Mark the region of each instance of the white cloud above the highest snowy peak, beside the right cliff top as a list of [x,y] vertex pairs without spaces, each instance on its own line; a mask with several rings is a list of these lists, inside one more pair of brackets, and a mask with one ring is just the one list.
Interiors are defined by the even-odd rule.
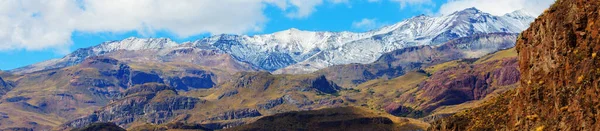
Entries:
[[494,15],[504,15],[520,9],[539,15],[552,3],[554,0],[449,0],[440,7],[439,13],[451,14],[465,8],[475,7]]

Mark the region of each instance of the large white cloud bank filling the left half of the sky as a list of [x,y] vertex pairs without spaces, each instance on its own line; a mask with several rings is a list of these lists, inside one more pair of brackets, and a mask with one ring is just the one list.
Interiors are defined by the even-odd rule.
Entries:
[[323,0],[2,0],[0,51],[67,52],[74,31],[137,31],[148,35],[165,31],[182,38],[203,33],[255,32],[267,21],[267,5],[280,8],[290,18],[305,18],[322,3]]

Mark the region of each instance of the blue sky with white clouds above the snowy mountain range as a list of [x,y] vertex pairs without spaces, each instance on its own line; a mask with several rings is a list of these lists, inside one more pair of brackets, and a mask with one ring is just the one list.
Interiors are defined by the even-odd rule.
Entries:
[[[498,6],[506,6],[505,8],[490,6],[493,4],[489,3],[495,0],[248,0],[257,1],[254,3],[236,3],[235,0],[227,3],[228,0],[223,0],[224,2],[221,3],[200,1],[204,3],[172,5],[181,7],[179,10],[163,8],[163,5],[169,6],[164,3],[144,3],[145,6],[158,5],[157,8],[161,8],[155,9],[159,10],[157,12],[148,13],[150,15],[139,15],[143,13],[135,12],[144,11],[144,8],[130,8],[126,6],[127,3],[118,1],[110,3],[111,0],[102,1],[105,3],[86,0],[52,1],[54,3],[9,1],[12,3],[0,3],[0,20],[9,21],[5,25],[0,25],[1,70],[61,58],[78,48],[132,36],[168,37],[177,42],[185,42],[211,34],[255,35],[289,28],[362,32],[420,14],[442,15],[467,7],[478,7],[492,14],[503,14],[524,8],[528,3],[548,5],[552,0],[500,2]],[[125,6],[115,7],[115,2]],[[139,5],[144,0],[137,2],[132,6]],[[186,10],[188,9],[185,8],[186,4],[200,4],[198,8],[205,6],[207,9],[192,7]],[[515,5],[520,6],[515,7]],[[64,11],[60,13],[52,11],[56,9]],[[110,11],[114,10],[117,12],[111,14]],[[531,12],[540,12],[538,10]],[[103,15],[102,13],[105,12],[109,13]],[[96,15],[86,17],[85,15],[88,14]]]

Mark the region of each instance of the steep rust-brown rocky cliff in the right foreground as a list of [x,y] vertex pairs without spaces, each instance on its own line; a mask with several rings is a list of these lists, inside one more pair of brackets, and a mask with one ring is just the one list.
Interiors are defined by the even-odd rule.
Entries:
[[432,129],[600,129],[600,1],[556,1],[521,34],[517,51],[521,87]]

